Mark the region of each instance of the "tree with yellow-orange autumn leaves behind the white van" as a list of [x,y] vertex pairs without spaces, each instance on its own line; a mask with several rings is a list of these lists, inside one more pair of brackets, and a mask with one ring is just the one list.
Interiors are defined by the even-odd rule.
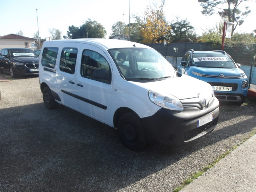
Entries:
[[159,7],[156,2],[154,2],[153,6],[146,6],[145,24],[140,27],[143,43],[158,43],[169,40],[171,26],[164,17],[163,8],[165,1],[162,0]]

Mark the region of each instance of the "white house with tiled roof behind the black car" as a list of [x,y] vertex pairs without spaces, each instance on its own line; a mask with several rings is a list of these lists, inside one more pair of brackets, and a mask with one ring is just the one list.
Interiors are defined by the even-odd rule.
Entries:
[[36,43],[36,39],[24,37],[16,34],[8,34],[0,36],[0,50],[9,47],[32,48],[32,43]]

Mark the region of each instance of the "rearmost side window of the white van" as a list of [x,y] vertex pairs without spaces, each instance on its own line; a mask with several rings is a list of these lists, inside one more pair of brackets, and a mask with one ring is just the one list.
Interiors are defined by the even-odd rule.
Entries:
[[45,47],[42,54],[42,66],[55,68],[58,47]]

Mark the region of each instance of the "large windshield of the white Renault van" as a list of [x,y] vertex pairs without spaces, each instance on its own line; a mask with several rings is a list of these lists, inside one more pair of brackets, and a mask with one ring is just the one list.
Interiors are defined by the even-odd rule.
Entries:
[[154,49],[119,48],[109,52],[126,80],[164,80],[177,76],[173,66]]

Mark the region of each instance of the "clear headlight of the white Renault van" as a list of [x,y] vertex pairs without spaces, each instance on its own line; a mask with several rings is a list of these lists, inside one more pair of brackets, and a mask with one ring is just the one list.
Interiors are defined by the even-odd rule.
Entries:
[[184,109],[181,101],[173,95],[161,94],[161,93],[149,90],[148,96],[154,104],[162,108],[166,108],[169,110],[176,110],[176,111],[182,111]]

